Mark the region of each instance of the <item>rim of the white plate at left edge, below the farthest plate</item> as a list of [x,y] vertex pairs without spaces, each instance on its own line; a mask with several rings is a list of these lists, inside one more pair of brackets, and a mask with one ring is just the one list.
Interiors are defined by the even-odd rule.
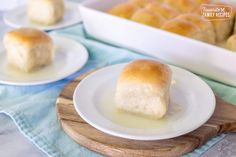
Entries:
[[0,79],[0,84],[14,85],[14,86],[36,86],[36,85],[43,85],[43,84],[53,83],[53,82],[62,80],[64,78],[74,74],[75,72],[77,72],[78,70],[81,70],[85,66],[85,64],[88,62],[88,59],[89,59],[89,53],[88,53],[88,50],[86,49],[86,47],[83,44],[81,44],[79,41],[75,41],[73,39],[64,37],[64,36],[59,35],[59,34],[49,34],[49,35],[52,38],[61,38],[63,40],[67,40],[67,41],[73,42],[74,44],[79,45],[83,49],[82,53],[84,53],[83,55],[85,56],[84,61],[81,64],[81,66],[78,67],[78,68],[75,68],[73,71],[71,71],[69,73],[66,73],[65,75],[60,76],[56,79],[52,78],[52,79],[48,79],[48,80],[44,80],[44,81],[34,81],[34,82],[14,82],[14,81],[4,81],[4,80]]

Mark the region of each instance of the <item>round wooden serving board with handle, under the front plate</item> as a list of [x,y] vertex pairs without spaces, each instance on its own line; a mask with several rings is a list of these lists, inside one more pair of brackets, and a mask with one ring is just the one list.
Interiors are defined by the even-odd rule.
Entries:
[[236,132],[236,107],[216,97],[214,115],[206,124],[189,134],[159,141],[128,140],[105,134],[86,123],[73,106],[74,89],[88,74],[65,86],[56,104],[57,116],[64,131],[90,150],[112,157],[179,156],[191,152],[221,133]]

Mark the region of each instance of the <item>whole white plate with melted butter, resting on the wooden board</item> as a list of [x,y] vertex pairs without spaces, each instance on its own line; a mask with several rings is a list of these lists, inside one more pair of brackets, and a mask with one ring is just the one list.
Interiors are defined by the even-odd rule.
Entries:
[[196,75],[173,66],[176,83],[171,87],[171,103],[164,119],[150,120],[117,111],[114,93],[124,66],[118,64],[94,72],[74,92],[77,112],[98,130],[134,140],[168,139],[197,129],[213,114],[215,96],[211,88]]

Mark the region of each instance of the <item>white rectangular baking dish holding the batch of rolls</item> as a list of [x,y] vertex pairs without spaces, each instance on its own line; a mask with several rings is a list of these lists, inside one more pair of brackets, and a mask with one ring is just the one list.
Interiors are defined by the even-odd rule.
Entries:
[[89,0],[80,5],[86,31],[105,42],[236,86],[236,53],[106,13],[125,1]]

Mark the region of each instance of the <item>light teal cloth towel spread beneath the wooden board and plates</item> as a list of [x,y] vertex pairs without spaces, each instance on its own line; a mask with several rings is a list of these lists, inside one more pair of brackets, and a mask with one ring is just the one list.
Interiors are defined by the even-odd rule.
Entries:
[[[146,58],[141,54],[94,40],[86,35],[83,25],[53,33],[84,44],[89,51],[89,61],[82,70],[54,83],[39,86],[0,85],[0,112],[9,115],[19,130],[38,148],[52,157],[99,157],[68,137],[57,121],[55,102],[63,86],[80,74],[93,68]],[[236,105],[236,88],[208,79],[204,80],[226,101]],[[221,140],[221,135],[186,156],[200,156]]]

